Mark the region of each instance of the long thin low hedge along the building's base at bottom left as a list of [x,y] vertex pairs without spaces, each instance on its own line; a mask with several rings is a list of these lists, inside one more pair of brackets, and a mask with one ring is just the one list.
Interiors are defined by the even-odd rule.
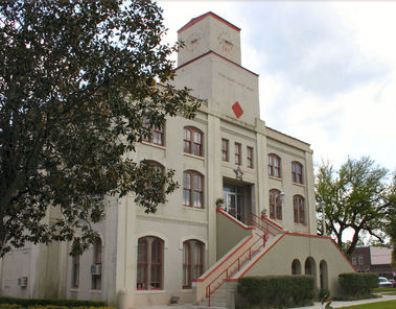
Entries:
[[[104,301],[91,301],[91,300],[77,300],[77,299],[35,299],[35,298],[13,298],[13,297],[0,297],[0,309],[3,304],[18,305],[18,307],[105,307]],[[9,307],[7,307],[9,308]],[[55,309],[55,308],[54,308]],[[59,308],[60,309],[60,308]]]

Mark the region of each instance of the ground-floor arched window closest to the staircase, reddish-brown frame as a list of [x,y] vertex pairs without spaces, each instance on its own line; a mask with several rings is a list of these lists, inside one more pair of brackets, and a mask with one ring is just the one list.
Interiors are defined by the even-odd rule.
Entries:
[[183,243],[183,288],[191,288],[191,282],[204,270],[204,244],[195,239]]

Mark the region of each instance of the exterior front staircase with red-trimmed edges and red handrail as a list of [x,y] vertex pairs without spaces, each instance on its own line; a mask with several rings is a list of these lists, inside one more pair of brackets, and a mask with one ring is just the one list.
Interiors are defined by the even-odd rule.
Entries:
[[[225,210],[222,215],[231,217]],[[231,218],[230,218],[231,219]],[[236,220],[232,217],[232,220]],[[246,226],[250,235],[237,243],[224,257],[210,267],[195,281],[197,308],[230,308],[239,278],[285,233],[281,226],[266,216],[251,215],[251,225]],[[239,222],[238,224],[243,225]]]

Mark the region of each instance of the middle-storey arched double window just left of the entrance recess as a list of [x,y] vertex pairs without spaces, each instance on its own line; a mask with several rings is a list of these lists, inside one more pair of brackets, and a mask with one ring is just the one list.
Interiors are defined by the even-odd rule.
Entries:
[[188,170],[184,172],[183,176],[184,205],[194,208],[203,208],[203,175],[197,171]]

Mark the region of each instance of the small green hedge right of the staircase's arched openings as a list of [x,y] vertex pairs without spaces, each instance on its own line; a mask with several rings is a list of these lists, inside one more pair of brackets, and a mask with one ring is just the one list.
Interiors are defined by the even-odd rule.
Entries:
[[344,273],[338,276],[338,282],[346,299],[368,298],[378,286],[375,273]]

